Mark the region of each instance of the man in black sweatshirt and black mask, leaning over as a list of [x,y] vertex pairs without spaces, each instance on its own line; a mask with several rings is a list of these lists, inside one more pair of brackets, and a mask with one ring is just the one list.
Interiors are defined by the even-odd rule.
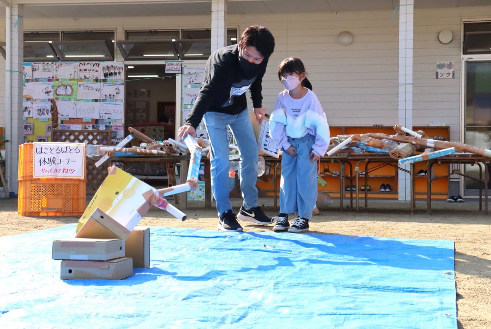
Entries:
[[[246,91],[250,90],[254,115],[264,119],[262,78],[274,51],[273,34],[262,26],[248,27],[237,45],[218,49],[210,55],[205,80],[179,137],[196,136],[196,127],[204,119],[211,142],[212,191],[217,201],[218,229],[242,231],[237,218],[261,225],[273,223],[257,205],[256,137],[247,110]],[[227,125],[230,126],[241,156],[241,190],[244,204],[236,216],[229,200],[229,149]]]

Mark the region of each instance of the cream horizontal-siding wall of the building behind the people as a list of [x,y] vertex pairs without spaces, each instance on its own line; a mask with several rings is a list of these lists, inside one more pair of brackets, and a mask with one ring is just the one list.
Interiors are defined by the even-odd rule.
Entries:
[[[251,24],[267,26],[276,48],[263,79],[263,104],[268,112],[278,92],[277,65],[288,56],[299,57],[318,95],[330,125],[393,125],[397,122],[398,17],[392,11],[312,14],[228,15],[229,28],[242,32]],[[439,121],[451,126],[451,139],[460,137],[460,52],[463,19],[490,19],[491,6],[464,9],[416,10],[414,14],[413,124]],[[209,28],[209,16],[134,17],[121,19],[59,19],[56,28],[124,30]],[[53,20],[25,20],[24,29],[52,30]],[[337,35],[349,30],[353,43],[343,47]],[[438,42],[440,30],[451,30],[454,40]],[[4,33],[2,35],[4,37]],[[116,51],[119,55],[119,52]],[[117,60],[121,60],[118,58]],[[455,79],[435,79],[436,61],[454,61]],[[0,60],[0,85],[4,80]],[[4,125],[3,89],[0,89],[0,124]]]

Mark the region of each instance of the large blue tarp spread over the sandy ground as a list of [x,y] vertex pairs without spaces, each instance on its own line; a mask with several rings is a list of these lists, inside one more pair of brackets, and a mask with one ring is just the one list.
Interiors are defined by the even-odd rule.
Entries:
[[457,328],[453,241],[152,227],[151,269],[63,281],[74,232],[0,238],[0,328]]

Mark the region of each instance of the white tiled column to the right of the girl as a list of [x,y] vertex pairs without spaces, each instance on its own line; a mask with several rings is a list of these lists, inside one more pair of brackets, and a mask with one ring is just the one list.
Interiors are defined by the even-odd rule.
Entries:
[[[399,124],[412,129],[412,58],[414,0],[399,1]],[[401,168],[410,169],[409,165]],[[411,199],[408,173],[399,171],[399,201]]]

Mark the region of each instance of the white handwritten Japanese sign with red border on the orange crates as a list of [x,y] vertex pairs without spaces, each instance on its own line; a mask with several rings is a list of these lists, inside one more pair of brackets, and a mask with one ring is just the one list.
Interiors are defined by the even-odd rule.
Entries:
[[83,143],[32,143],[33,178],[85,179]]

